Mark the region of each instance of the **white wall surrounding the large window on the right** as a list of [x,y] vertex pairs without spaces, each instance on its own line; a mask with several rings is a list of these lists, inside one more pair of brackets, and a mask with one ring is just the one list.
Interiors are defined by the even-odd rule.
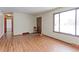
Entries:
[[68,43],[79,45],[79,37],[73,37],[73,36],[53,32],[53,13],[65,11],[69,9],[72,9],[72,8],[60,8],[58,10],[47,12],[47,13],[40,14],[37,16],[42,17],[42,34],[57,38],[59,40],[63,40]]

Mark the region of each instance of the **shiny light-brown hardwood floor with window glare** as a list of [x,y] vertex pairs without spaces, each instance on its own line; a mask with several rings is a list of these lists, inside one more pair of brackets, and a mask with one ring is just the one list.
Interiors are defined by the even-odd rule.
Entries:
[[79,49],[44,35],[4,35],[0,39],[0,52],[77,52]]

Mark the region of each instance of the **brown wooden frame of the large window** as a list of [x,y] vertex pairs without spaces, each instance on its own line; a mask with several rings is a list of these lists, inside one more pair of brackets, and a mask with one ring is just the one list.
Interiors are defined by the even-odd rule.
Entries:
[[[73,9],[69,9],[69,10],[66,10],[66,11],[61,11],[61,12],[57,12],[57,13],[54,13],[53,14],[53,32],[55,32],[55,33],[60,33],[60,34],[64,34],[64,35],[69,35],[69,36],[74,36],[74,37],[79,37],[79,35],[77,35],[77,10],[78,10],[79,8],[73,8]],[[67,12],[67,11],[72,11],[72,10],[75,10],[75,19],[74,19],[74,21],[75,21],[75,35],[73,35],[73,34],[70,34],[70,33],[64,33],[64,32],[60,32],[60,13],[63,13],[63,12]],[[56,14],[59,14],[59,32],[57,32],[57,31],[55,31],[55,15]]]

